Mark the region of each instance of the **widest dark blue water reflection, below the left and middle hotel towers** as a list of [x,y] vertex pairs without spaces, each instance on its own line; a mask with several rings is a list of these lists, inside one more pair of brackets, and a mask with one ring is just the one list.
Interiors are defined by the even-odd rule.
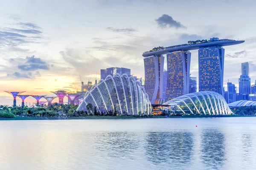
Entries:
[[145,154],[153,164],[189,164],[193,139],[190,132],[148,132]]

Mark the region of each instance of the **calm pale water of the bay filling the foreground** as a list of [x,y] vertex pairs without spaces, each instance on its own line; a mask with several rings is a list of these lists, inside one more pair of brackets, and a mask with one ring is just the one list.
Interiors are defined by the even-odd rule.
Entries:
[[0,121],[0,170],[255,167],[255,117]]

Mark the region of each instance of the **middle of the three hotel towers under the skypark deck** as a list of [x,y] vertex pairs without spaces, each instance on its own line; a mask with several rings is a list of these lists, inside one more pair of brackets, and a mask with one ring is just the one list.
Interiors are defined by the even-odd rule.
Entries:
[[191,53],[189,51],[169,52],[167,55],[166,102],[189,93],[189,72]]

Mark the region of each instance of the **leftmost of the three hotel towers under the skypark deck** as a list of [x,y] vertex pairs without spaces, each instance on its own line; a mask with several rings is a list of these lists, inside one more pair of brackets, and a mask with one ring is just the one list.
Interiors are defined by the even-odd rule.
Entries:
[[162,55],[144,57],[145,92],[151,104],[163,102],[163,62]]

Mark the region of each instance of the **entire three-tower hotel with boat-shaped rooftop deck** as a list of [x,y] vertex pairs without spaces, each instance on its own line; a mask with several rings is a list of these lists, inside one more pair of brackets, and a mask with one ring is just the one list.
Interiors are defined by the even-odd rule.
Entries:
[[[144,52],[145,92],[151,104],[162,104],[189,93],[190,61],[189,50],[198,49],[199,91],[214,91],[224,95],[224,51],[223,46],[243,43],[244,40],[189,41],[188,44],[157,47]],[[167,57],[167,88],[163,99],[163,64]]]

